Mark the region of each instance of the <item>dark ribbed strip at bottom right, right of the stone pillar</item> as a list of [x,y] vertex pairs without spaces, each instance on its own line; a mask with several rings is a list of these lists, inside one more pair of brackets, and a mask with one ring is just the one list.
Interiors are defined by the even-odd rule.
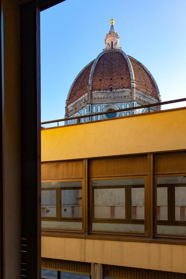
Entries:
[[186,279],[186,274],[104,264],[103,277],[122,279]]

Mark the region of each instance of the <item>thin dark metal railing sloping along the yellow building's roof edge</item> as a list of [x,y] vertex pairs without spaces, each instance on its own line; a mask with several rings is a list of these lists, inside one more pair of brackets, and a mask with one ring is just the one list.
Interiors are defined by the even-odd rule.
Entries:
[[[88,117],[104,115],[104,114],[108,114],[108,113],[110,114],[110,113],[138,110],[138,109],[141,109],[141,108],[148,108],[148,112],[150,112],[150,108],[151,107],[157,107],[157,106],[160,107],[160,106],[165,105],[165,104],[173,104],[173,103],[179,103],[179,102],[184,102],[184,101],[186,101],[186,98],[176,99],[176,100],[171,100],[171,101],[165,101],[165,102],[160,102],[160,103],[146,104],[146,105],[143,105],[143,106],[136,106],[136,107],[130,107],[130,108],[114,109],[114,110],[109,110],[107,112],[92,113],[92,114],[86,114],[86,115],[82,115],[82,116],[67,117],[67,118],[62,118],[62,119],[45,121],[45,122],[41,122],[41,125],[50,124],[50,123],[57,123],[57,126],[59,126],[59,122],[73,120],[73,119],[82,119],[82,118],[84,118],[84,122],[83,123],[85,123],[86,122],[86,118],[88,118]],[[115,118],[115,117],[113,117],[113,118]],[[111,119],[111,118],[109,118],[109,119]],[[97,121],[97,120],[95,120],[95,121]]]

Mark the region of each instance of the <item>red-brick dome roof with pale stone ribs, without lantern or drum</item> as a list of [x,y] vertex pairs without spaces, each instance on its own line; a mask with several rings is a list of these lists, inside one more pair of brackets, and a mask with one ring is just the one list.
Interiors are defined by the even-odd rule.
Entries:
[[[67,104],[72,104],[89,90],[113,90],[131,85],[154,99],[159,99],[157,84],[146,67],[122,50],[106,50],[90,62],[75,78],[67,96]],[[134,87],[134,86],[132,86]]]

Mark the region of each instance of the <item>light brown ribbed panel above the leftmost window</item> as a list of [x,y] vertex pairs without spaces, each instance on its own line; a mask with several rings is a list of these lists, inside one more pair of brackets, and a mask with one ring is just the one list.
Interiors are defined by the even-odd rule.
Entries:
[[65,161],[41,164],[41,179],[83,177],[83,161]]

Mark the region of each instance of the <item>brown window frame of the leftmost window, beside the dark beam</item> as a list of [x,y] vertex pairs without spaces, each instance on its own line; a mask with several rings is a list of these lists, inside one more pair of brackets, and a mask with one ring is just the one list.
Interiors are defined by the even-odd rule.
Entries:
[[[63,228],[42,228],[42,232],[77,232],[77,233],[84,233],[85,232],[85,185],[83,178],[72,178],[72,179],[45,179],[42,180],[41,183],[50,183],[50,182],[70,182],[70,181],[81,181],[82,187],[50,187],[50,188],[41,188],[42,191],[46,190],[55,190],[56,191],[56,216],[55,217],[41,217],[42,221],[67,221],[67,222],[82,222],[82,230],[75,230],[75,229],[63,229]],[[79,217],[62,217],[61,216],[61,190],[67,189],[82,189],[82,218]]]

